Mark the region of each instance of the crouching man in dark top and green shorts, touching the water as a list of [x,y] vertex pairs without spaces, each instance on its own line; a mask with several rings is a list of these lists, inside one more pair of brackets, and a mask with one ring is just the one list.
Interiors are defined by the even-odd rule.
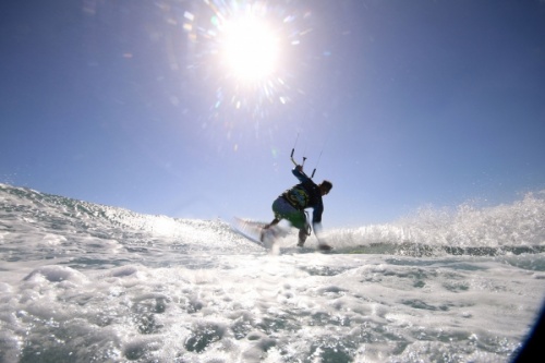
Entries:
[[[322,214],[324,213],[322,196],[328,194],[334,185],[327,180],[324,180],[320,184],[316,185],[312,179],[303,172],[303,167],[300,165],[293,168],[292,173],[301,183],[283,192],[272,203],[275,219],[263,228],[261,234],[262,242],[267,229],[278,225],[280,220],[286,219],[293,227],[299,229],[298,246],[302,247],[306,238],[311,234],[311,226],[306,220],[306,208],[313,208],[312,226],[314,228],[314,234],[318,238],[317,232],[322,230]],[[320,250],[331,249],[326,243],[319,241],[319,239],[318,247]]]

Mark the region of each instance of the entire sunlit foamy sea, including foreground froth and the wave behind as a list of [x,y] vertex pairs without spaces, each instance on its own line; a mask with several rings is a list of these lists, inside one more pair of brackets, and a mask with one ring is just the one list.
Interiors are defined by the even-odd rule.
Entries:
[[0,184],[0,362],[509,362],[545,295],[544,222],[529,194],[271,252]]

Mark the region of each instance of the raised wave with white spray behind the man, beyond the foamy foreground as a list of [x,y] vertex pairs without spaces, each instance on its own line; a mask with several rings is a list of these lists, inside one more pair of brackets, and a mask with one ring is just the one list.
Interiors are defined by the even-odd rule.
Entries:
[[[0,241],[8,240],[1,250],[9,254],[8,261],[33,254],[53,258],[74,249],[85,251],[89,259],[93,252],[154,255],[167,247],[180,254],[263,251],[219,219],[143,215],[5,184],[0,184]],[[544,226],[545,192],[540,192],[494,207],[421,208],[391,223],[331,229],[323,238],[336,253],[504,256],[545,253]],[[21,251],[21,240],[32,251]],[[296,230],[292,229],[278,244],[293,247],[295,242]]]

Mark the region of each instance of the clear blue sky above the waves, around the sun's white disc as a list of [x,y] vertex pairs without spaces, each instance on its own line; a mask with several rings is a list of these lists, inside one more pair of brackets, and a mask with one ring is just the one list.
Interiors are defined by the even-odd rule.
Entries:
[[[278,61],[244,83],[221,22],[254,12]],[[326,228],[509,203],[545,189],[543,39],[537,0],[8,0],[0,182],[269,220],[296,146]]]

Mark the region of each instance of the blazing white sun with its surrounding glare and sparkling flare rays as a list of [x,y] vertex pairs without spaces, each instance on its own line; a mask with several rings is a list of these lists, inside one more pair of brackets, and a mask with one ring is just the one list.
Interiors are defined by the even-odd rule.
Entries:
[[304,95],[298,77],[308,19],[292,1],[203,0],[185,12],[187,69],[210,87],[218,119],[233,110],[265,118]]

